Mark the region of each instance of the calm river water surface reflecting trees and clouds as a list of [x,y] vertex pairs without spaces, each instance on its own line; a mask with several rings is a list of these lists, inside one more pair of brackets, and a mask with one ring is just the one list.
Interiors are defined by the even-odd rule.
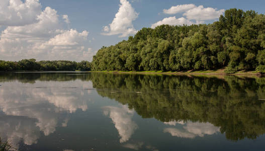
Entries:
[[265,78],[0,73],[20,150],[264,150]]

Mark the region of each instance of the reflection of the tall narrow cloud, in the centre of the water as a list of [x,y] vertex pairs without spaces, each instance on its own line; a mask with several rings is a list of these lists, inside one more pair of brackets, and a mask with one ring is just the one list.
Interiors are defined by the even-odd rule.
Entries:
[[130,110],[127,106],[113,107],[106,106],[103,107],[104,114],[109,115],[115,124],[115,128],[118,130],[121,136],[120,142],[126,142],[129,140],[134,130],[137,129],[137,124],[132,121],[132,116],[134,111]]

